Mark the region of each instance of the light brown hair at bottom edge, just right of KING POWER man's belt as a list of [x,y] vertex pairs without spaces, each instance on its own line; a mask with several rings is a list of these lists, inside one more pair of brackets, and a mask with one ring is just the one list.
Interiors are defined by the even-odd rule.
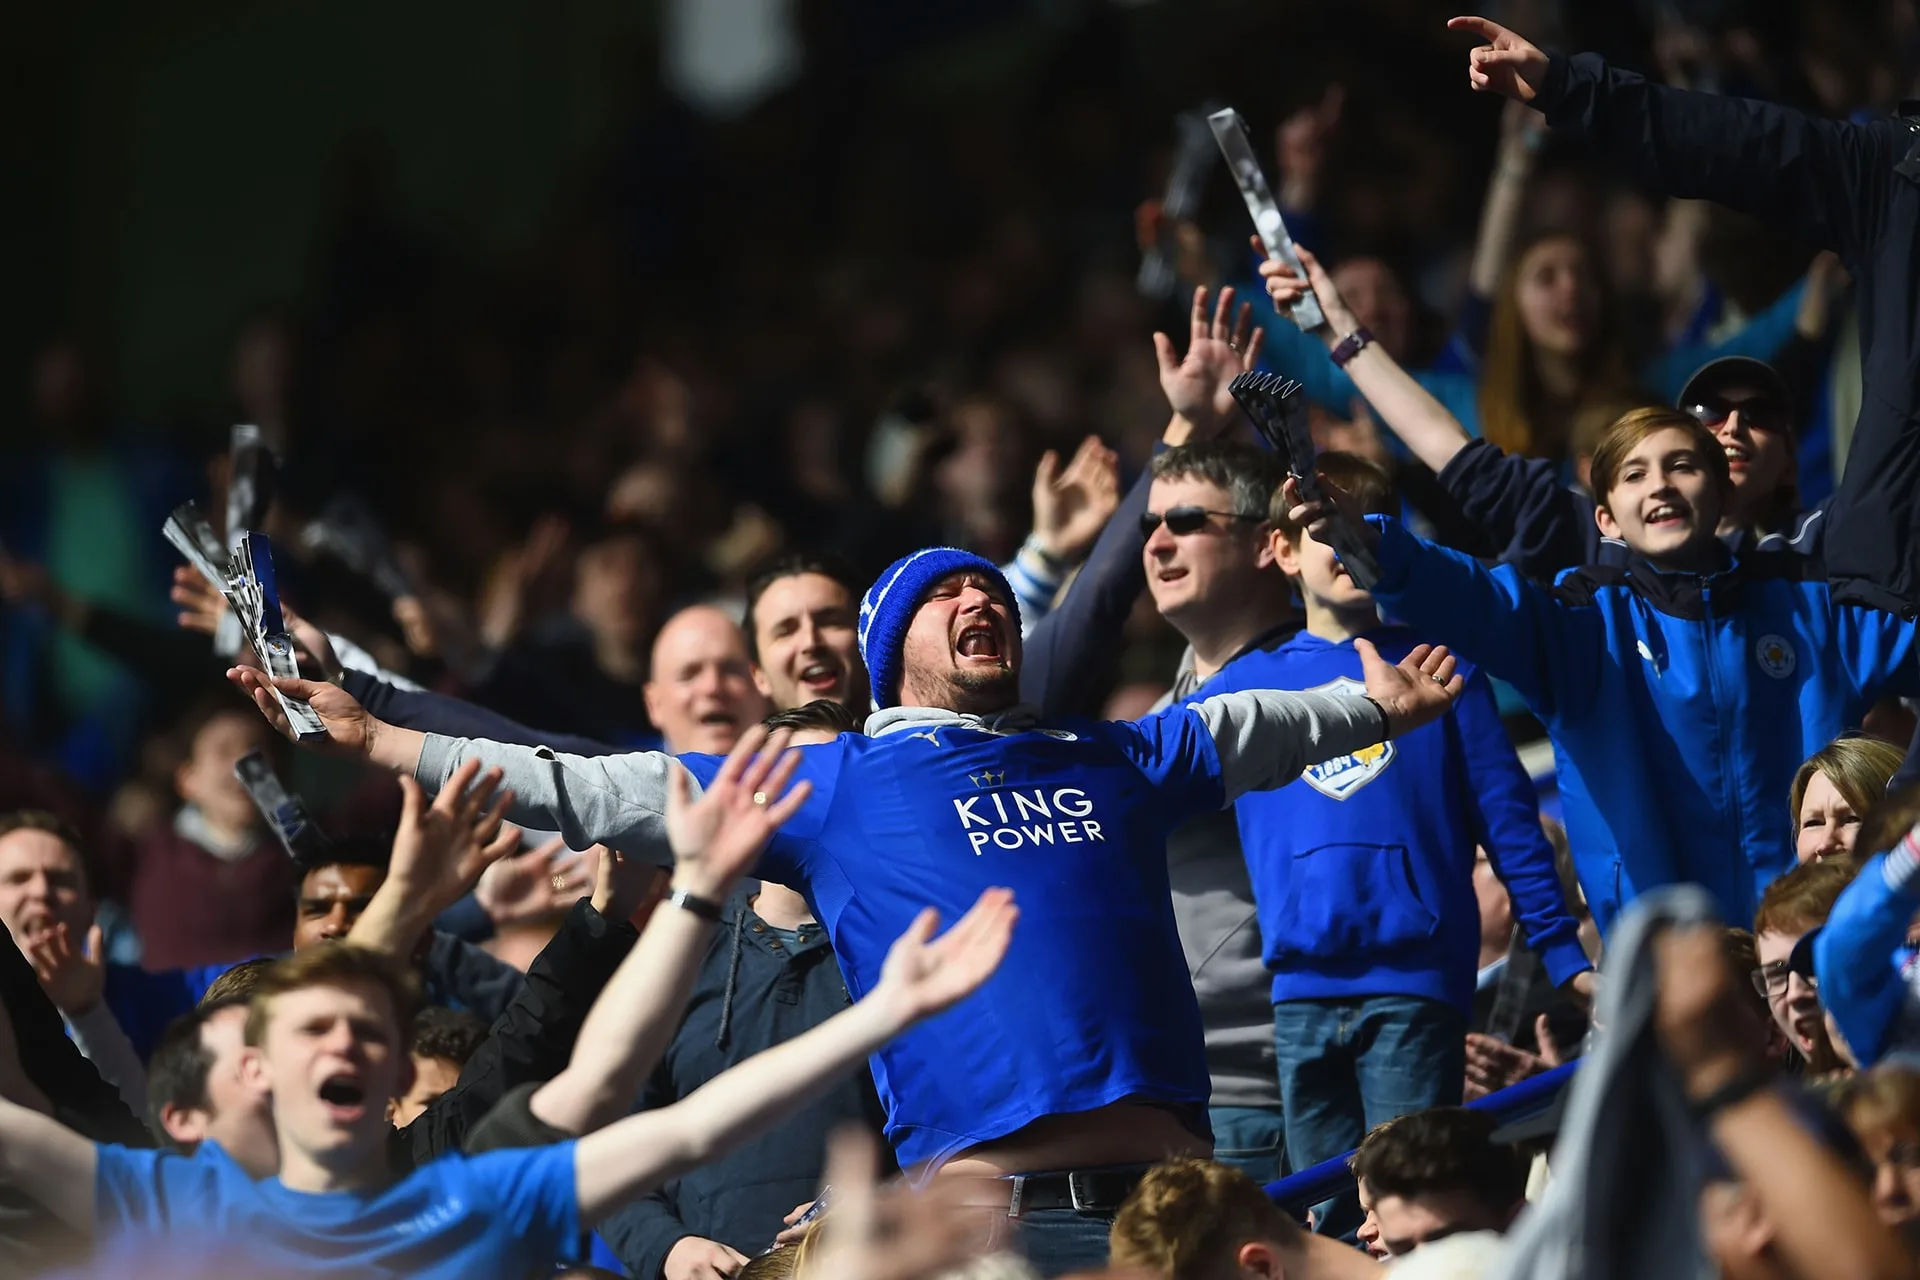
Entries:
[[1250,1176],[1210,1159],[1154,1165],[1114,1215],[1112,1261],[1167,1280],[1229,1280],[1240,1245],[1300,1247],[1300,1224]]

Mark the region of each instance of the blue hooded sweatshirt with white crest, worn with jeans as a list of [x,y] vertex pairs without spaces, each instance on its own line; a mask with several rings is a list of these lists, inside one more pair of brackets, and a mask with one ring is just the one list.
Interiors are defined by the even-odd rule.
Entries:
[[[1367,639],[1388,662],[1421,643],[1405,628]],[[1476,844],[1511,890],[1553,984],[1592,967],[1494,689],[1471,666],[1461,674],[1467,691],[1446,718],[1235,802],[1275,1004],[1421,996],[1471,1013]],[[1200,695],[1229,689],[1361,697],[1365,681],[1352,641],[1302,631],[1235,658]]]

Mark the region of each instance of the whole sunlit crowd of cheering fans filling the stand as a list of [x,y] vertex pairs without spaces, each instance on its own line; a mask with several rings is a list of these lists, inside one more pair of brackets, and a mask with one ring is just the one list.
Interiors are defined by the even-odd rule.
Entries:
[[960,130],[977,242],[743,244],[745,319],[599,225],[497,328],[263,313],[252,510],[50,344],[0,1272],[1920,1270],[1916,25],[1682,8],[1649,77],[1428,33],[1505,100],[1471,238],[1357,71],[1279,117],[1298,269]]

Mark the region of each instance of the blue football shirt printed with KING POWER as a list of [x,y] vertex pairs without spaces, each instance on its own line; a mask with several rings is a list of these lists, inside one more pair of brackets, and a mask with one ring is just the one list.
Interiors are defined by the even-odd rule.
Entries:
[[[1129,1098],[1206,1132],[1200,1007],[1165,854],[1173,827],[1225,802],[1196,714],[1027,733],[929,722],[801,756],[812,796],[758,873],[808,896],[856,1000],[924,908],[948,925],[996,885],[1020,904],[987,986],[874,1057],[902,1167]],[[720,764],[682,760],[703,783]]]

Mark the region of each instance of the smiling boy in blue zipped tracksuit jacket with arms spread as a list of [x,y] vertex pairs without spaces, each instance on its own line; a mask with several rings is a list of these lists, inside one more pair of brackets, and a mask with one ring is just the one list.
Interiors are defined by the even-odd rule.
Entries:
[[1793,770],[1882,695],[1914,693],[1914,628],[1834,604],[1818,560],[1728,553],[1715,537],[1726,455],[1684,413],[1628,413],[1592,474],[1624,564],[1542,587],[1375,516],[1375,599],[1513,683],[1548,725],[1601,929],[1638,894],[1688,881],[1726,919],[1749,919],[1793,865],[1780,819]]

